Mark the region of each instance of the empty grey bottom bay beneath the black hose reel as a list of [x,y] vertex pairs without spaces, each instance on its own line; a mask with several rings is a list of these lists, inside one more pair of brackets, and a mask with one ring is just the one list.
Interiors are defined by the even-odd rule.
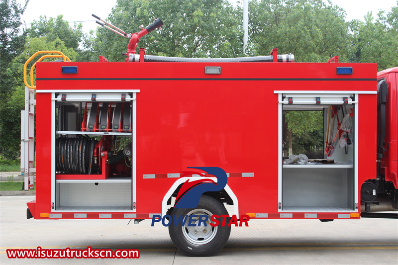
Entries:
[[[56,182],[56,210],[65,207],[95,207],[109,209],[131,210],[132,184],[131,182]],[[83,208],[82,208],[83,209]]]

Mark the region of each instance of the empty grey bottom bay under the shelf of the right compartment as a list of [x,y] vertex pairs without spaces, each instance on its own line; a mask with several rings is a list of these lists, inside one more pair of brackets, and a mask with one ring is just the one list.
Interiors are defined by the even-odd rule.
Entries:
[[352,211],[354,209],[353,168],[284,168],[283,211]]

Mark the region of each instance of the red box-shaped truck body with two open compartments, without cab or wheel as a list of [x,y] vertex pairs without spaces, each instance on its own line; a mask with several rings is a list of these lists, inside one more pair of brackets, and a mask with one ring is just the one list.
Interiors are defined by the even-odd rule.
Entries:
[[[335,219],[340,213],[359,213],[361,184],[376,176],[376,168],[369,163],[376,153],[374,64],[72,64],[78,67],[78,74],[61,74],[61,68],[71,63],[37,63],[38,177],[35,211],[31,211],[35,218],[40,218],[41,213],[56,212],[62,212],[56,215],[62,218],[75,218],[75,213],[86,212],[85,207],[90,207],[87,212],[93,212],[90,218],[100,218],[101,213],[113,212],[106,207],[119,206],[128,210],[113,213],[112,218],[124,218],[122,213],[135,213],[137,219],[150,218],[152,214],[162,214],[164,196],[180,172],[187,167],[217,166],[230,174],[227,185],[233,194],[229,197],[236,196],[239,214],[281,218],[283,213],[293,213],[291,217],[304,218],[305,213],[316,212],[318,219]],[[221,67],[222,73],[206,75],[204,68],[208,66]],[[353,67],[353,75],[336,75],[337,66]],[[289,78],[286,73],[290,73]],[[131,183],[130,179],[112,181],[113,176],[104,180],[80,175],[78,178],[83,179],[65,179],[55,169],[55,143],[62,134],[62,130],[55,129],[56,108],[70,102],[90,104],[95,102],[91,101],[92,94],[101,102],[102,93],[103,97],[111,94],[112,100],[121,98],[122,93],[133,93],[131,97],[135,99],[131,101],[131,137],[136,156]],[[59,100],[62,94],[66,94],[66,101]],[[283,100],[286,95],[293,95],[293,104],[287,103],[288,97]],[[315,104],[315,96],[320,96],[321,104]],[[296,102],[307,100],[306,97],[314,103]],[[325,109],[328,101],[343,104],[343,97],[350,102],[347,106],[354,108],[356,121],[354,143],[346,162],[340,159],[336,165],[282,165],[282,110],[305,106]],[[77,131],[85,134],[81,128]],[[339,151],[336,148],[332,158]],[[290,176],[295,173],[308,177],[297,177],[296,181]],[[285,174],[289,176],[286,183]],[[124,194],[128,199],[121,198],[126,186],[131,186]],[[89,192],[91,189],[95,195]],[[90,196],[102,197],[104,205],[100,205],[99,198],[91,204]],[[308,207],[287,211],[289,206],[295,206],[289,205],[294,200],[299,203],[297,207]],[[65,207],[74,208],[68,211]],[[331,208],[322,211],[317,207]]]

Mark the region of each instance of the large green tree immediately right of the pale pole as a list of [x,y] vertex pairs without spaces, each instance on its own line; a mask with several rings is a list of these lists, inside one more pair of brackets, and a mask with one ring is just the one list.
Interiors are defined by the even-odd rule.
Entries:
[[352,53],[345,12],[330,0],[253,0],[249,46],[253,55],[293,53],[298,62],[326,62]]

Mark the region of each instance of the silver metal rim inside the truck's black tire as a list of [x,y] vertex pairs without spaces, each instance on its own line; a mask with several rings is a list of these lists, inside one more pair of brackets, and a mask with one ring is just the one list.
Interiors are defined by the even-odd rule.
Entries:
[[[215,235],[217,234],[217,227],[210,226],[210,216],[212,215],[211,212],[205,210],[205,209],[194,209],[190,211],[188,214],[188,219],[185,222],[185,225],[182,226],[181,228],[183,229],[183,235],[184,237],[191,242],[192,244],[195,245],[204,245],[209,243]],[[192,220],[195,220],[195,226],[189,226],[189,218],[190,215],[194,215]],[[203,224],[203,222],[200,223],[199,226],[199,216],[198,215],[207,215],[208,220],[206,222],[206,226]],[[203,220],[203,218],[202,218]],[[213,223],[213,222],[212,222]]]

